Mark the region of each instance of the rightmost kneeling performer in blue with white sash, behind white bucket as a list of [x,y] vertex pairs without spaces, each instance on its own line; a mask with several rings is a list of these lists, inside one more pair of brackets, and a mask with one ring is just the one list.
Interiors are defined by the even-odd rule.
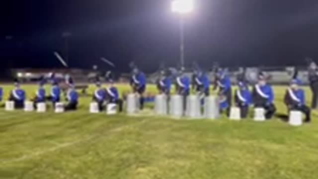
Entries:
[[311,109],[306,105],[306,97],[304,89],[299,86],[301,81],[299,79],[293,79],[290,83],[290,87],[285,92],[284,102],[289,111],[298,110],[306,115],[305,122],[311,121]]

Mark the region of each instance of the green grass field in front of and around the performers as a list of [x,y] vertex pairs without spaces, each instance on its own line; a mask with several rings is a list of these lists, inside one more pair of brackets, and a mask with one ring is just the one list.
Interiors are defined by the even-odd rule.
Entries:
[[[279,113],[285,88],[275,87]],[[0,109],[0,179],[318,178],[317,111],[311,124],[292,127],[278,118],[89,114],[89,101],[63,114]]]

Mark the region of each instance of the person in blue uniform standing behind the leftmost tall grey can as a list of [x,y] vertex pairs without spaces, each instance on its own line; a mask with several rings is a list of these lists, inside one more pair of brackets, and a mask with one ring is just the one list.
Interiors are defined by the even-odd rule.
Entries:
[[147,79],[146,75],[141,72],[137,67],[134,68],[131,77],[130,85],[135,93],[139,94],[140,110],[144,109]]

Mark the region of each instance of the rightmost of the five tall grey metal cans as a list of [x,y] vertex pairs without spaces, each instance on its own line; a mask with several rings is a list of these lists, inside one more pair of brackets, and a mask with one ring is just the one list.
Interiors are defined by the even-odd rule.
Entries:
[[220,117],[219,97],[215,95],[205,97],[204,117],[218,119]]

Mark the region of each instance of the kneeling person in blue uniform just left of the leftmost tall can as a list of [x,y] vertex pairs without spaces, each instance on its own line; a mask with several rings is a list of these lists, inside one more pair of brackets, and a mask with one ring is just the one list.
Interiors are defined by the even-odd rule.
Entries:
[[106,88],[106,102],[117,104],[119,112],[123,111],[123,100],[119,97],[119,91],[113,80],[109,80],[109,87]]

